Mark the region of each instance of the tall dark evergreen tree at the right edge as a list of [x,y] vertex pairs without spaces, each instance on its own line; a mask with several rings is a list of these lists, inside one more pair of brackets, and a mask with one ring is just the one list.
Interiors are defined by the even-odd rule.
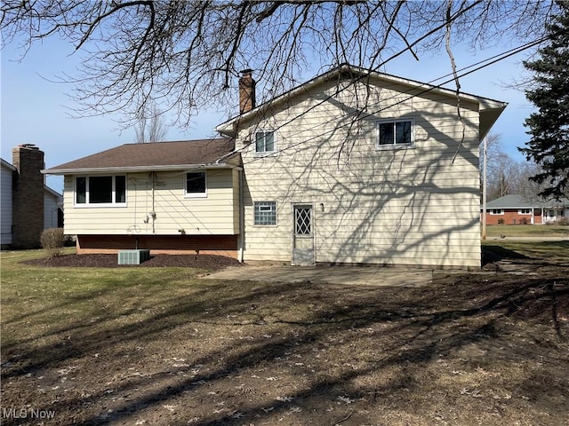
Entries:
[[533,87],[525,97],[538,111],[525,120],[531,139],[520,151],[541,166],[531,177],[545,184],[543,196],[569,192],[569,3],[558,1],[559,13],[547,26],[550,40],[540,59],[524,62],[533,71]]

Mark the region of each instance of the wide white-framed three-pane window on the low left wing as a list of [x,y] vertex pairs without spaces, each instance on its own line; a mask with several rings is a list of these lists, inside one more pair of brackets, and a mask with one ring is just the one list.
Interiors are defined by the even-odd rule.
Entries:
[[76,204],[126,204],[125,176],[76,177]]

